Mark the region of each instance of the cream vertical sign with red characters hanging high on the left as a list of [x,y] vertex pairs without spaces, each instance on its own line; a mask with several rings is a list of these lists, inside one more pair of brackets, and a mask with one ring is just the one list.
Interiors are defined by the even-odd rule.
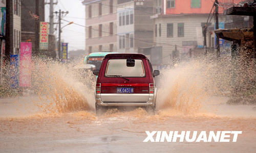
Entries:
[[48,22],[40,22],[40,44],[39,49],[48,50],[48,42],[49,42],[49,24]]

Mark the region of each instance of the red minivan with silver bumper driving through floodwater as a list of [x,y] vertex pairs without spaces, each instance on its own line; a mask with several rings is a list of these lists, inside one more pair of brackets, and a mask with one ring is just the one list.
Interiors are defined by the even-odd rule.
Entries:
[[148,111],[156,108],[157,89],[154,70],[143,54],[108,54],[103,59],[95,89],[96,113],[108,107],[138,106]]

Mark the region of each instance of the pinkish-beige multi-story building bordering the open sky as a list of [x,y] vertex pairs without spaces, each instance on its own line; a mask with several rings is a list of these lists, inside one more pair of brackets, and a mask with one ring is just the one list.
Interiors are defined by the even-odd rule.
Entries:
[[117,51],[117,0],[84,0],[86,53]]

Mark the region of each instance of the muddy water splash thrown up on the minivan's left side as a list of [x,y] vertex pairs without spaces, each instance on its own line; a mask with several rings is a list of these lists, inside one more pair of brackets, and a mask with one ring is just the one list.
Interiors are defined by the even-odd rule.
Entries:
[[[91,74],[79,75],[72,64],[36,60],[32,72],[32,88],[39,101],[34,103],[46,113],[66,113],[92,110],[88,100],[92,99],[89,83],[95,80]],[[89,72],[88,72],[89,73]],[[82,83],[86,76],[87,83]],[[94,80],[93,80],[94,79]]]

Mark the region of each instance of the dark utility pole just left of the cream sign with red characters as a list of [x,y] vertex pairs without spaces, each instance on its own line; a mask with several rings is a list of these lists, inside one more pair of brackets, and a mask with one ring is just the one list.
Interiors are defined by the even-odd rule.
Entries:
[[40,14],[39,14],[39,0],[36,0],[35,2],[35,13],[37,16],[39,16],[39,18],[37,19],[37,21],[35,22],[35,55],[38,55],[39,53],[39,33],[40,33],[40,29],[39,29],[39,22],[40,22]]

